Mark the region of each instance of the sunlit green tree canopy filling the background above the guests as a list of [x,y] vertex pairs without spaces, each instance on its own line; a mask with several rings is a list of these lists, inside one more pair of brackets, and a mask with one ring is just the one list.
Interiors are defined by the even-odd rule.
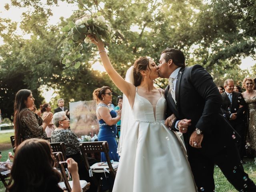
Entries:
[[[158,63],[167,47],[180,48],[186,64],[201,64],[216,84],[233,78],[240,83],[245,76],[256,76],[239,68],[240,58],[256,59],[256,2],[254,0],[61,0],[78,5],[68,19],[50,25],[52,6],[60,1],[10,0],[12,6],[26,8],[20,24],[0,18],[0,108],[11,118],[15,94],[22,88],[32,90],[37,106],[43,101],[40,86],[58,91],[66,101],[92,100],[94,89],[103,85],[121,92],[106,73],[92,69],[99,61],[95,46],[83,43],[78,59],[81,66],[68,68],[60,62],[62,28],[84,12],[98,12],[112,26],[112,44],[108,54],[114,68],[124,77],[136,58],[148,56]],[[30,39],[16,34],[20,27]],[[136,30],[135,30],[136,29]],[[166,80],[159,79],[161,88]]]

